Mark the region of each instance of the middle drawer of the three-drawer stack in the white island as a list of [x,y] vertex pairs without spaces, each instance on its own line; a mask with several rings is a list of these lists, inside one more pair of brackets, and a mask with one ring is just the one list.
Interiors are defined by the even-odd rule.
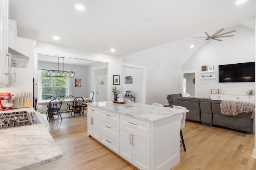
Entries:
[[119,139],[119,124],[101,118],[101,130]]

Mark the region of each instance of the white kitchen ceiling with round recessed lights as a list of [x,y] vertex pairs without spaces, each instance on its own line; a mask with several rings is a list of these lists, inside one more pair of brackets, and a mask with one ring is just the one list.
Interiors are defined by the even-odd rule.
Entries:
[[256,0],[235,2],[9,0],[9,19],[17,21],[19,37],[124,56],[238,24],[255,29]]

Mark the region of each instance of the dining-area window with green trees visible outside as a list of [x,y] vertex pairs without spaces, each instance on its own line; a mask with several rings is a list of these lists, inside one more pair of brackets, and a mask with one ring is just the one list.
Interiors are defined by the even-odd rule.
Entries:
[[67,78],[66,77],[46,77],[46,72],[41,72],[42,100],[49,96],[60,98],[67,96]]

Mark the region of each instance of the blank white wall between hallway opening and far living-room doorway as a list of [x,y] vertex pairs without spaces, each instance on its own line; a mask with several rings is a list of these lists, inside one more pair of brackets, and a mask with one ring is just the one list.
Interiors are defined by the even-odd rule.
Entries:
[[123,63],[146,66],[146,104],[168,104],[168,94],[181,92],[181,65],[173,62],[174,57],[159,47],[122,57]]

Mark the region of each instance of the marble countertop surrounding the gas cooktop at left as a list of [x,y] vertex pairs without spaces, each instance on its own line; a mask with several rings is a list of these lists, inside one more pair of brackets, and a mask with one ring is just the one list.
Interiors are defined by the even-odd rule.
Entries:
[[[26,107],[0,113],[21,110],[34,111]],[[1,170],[27,170],[62,158],[62,152],[45,127],[47,121],[39,112],[36,115],[41,124],[0,130]]]

